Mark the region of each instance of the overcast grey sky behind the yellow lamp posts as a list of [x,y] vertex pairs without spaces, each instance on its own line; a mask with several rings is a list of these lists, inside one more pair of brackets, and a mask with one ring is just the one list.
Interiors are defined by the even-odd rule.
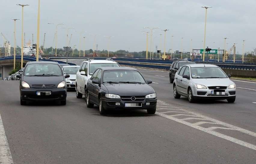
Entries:
[[[10,41],[11,46],[14,45],[14,20],[11,19],[20,19],[16,21],[16,41],[17,45],[21,46],[22,7],[16,4],[29,5],[24,7],[25,41],[30,39],[32,42],[33,39],[36,43],[38,1],[1,2],[5,5],[0,6],[0,32]],[[182,49],[189,52],[191,47],[203,49],[206,9],[201,7],[212,7],[207,9],[205,46],[224,49],[223,38],[228,38],[226,50],[229,50],[233,43],[237,43],[236,53],[242,54],[242,40],[245,40],[244,52],[256,48],[255,6],[256,1],[252,0],[41,0],[39,44],[43,44],[45,33],[44,47],[55,48],[56,26],[48,23],[64,23],[57,26],[58,48],[66,46],[67,41],[67,30],[60,27],[75,27],[68,30],[68,40],[72,34],[69,45],[72,48],[76,45],[79,50],[79,32],[87,31],[81,33],[81,50],[84,50],[84,46],[86,50],[93,49],[94,36],[89,34],[100,34],[95,36],[98,50],[108,50],[108,38],[104,36],[114,36],[110,38],[110,51],[139,52],[146,50],[146,35],[142,34],[141,30],[148,32],[159,27],[152,30],[152,50],[156,50],[156,45],[159,50],[161,43],[163,52],[162,30],[169,29],[166,31],[166,52],[171,48],[174,51]],[[157,36],[161,36],[161,40]],[[1,36],[1,47],[3,43]]]

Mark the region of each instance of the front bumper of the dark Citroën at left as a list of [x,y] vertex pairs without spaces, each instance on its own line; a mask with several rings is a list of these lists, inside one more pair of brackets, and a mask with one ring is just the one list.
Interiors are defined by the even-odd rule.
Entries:
[[[50,91],[50,95],[37,95],[36,92]],[[35,88],[26,88],[20,90],[20,98],[23,101],[55,101],[66,100],[67,90],[63,88],[51,88],[47,90],[40,90]]]

